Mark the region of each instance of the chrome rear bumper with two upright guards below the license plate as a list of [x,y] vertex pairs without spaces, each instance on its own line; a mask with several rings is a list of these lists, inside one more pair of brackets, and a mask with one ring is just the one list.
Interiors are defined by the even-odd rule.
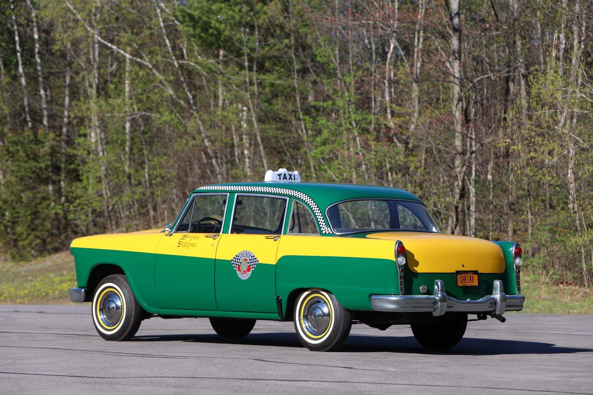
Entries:
[[375,311],[394,313],[432,311],[433,316],[442,316],[447,311],[502,316],[505,311],[523,309],[524,301],[525,297],[522,295],[506,295],[500,280],[492,282],[492,295],[478,300],[459,300],[447,296],[445,284],[441,280],[435,280],[432,295],[371,295],[371,306]]

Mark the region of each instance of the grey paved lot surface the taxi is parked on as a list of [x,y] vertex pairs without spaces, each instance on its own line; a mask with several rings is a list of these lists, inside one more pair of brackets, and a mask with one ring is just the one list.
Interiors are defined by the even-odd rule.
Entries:
[[355,325],[342,351],[319,353],[292,323],[230,342],[208,319],[154,318],[106,342],[90,306],[0,306],[0,393],[593,394],[593,316],[506,316],[468,323],[449,352],[409,326]]

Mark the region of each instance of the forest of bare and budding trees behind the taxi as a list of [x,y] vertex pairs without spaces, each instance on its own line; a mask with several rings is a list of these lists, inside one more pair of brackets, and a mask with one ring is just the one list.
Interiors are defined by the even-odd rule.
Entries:
[[0,261],[298,169],[593,280],[585,0],[5,0]]

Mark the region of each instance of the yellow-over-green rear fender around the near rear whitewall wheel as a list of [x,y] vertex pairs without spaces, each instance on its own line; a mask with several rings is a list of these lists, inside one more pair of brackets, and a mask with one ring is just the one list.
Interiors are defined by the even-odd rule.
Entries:
[[282,236],[276,295],[282,311],[297,290],[320,288],[346,309],[372,310],[371,294],[399,293],[395,242],[350,237]]

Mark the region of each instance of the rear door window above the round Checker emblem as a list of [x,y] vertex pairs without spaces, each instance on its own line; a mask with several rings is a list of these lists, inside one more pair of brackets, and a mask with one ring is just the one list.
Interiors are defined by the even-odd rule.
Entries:
[[284,225],[286,198],[237,195],[231,233],[280,235]]

